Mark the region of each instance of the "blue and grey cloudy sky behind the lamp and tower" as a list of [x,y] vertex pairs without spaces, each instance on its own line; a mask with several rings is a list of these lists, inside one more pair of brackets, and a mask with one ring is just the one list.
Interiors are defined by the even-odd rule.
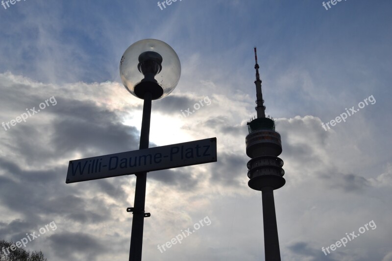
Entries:
[[136,177],[65,180],[71,160],[139,148],[143,100],[124,88],[119,65],[128,46],[152,38],[175,50],[181,78],[152,102],[150,147],[216,137],[218,161],[147,173],[143,260],[265,260],[245,153],[257,46],[283,147],[282,260],[392,261],[392,2],[328,3],[4,2],[0,238],[35,233],[25,247],[49,261],[128,260]]

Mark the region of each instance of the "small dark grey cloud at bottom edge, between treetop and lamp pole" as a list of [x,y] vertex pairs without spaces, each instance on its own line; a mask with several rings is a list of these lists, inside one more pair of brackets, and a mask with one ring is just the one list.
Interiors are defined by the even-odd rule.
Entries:
[[56,255],[66,260],[83,256],[83,260],[94,261],[99,254],[108,251],[105,245],[85,233],[56,233],[49,240]]

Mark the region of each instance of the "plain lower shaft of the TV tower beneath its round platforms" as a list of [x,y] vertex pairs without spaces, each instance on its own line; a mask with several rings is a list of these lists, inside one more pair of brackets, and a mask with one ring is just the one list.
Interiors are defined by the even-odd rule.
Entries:
[[273,189],[265,187],[263,197],[264,248],[266,261],[280,261],[278,227],[276,225],[275,201]]

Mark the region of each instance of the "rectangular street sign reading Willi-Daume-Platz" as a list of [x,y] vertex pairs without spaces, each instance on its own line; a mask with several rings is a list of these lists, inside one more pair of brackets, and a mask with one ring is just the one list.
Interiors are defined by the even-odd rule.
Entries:
[[70,161],[66,183],[217,161],[217,138]]

